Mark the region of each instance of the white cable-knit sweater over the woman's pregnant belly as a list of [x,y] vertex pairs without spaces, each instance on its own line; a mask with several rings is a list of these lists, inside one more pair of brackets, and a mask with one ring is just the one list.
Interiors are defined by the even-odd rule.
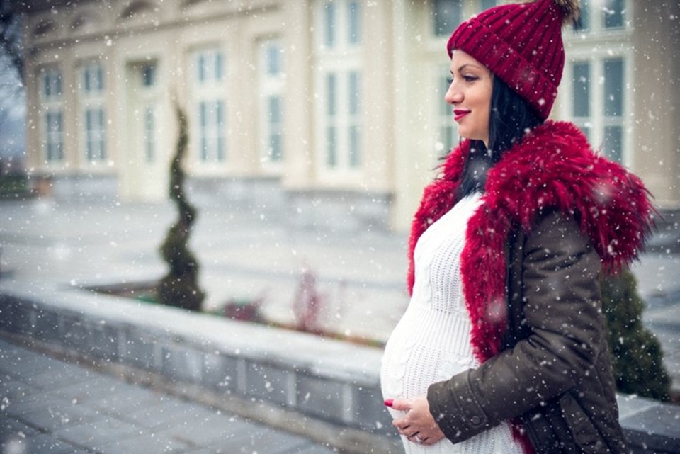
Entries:
[[[460,279],[460,253],[465,244],[467,220],[480,205],[480,194],[460,200],[422,234],[414,251],[415,285],[404,316],[392,331],[382,358],[380,379],[385,399],[426,395],[433,382],[478,363],[470,347],[470,317]],[[403,412],[390,409],[392,417]],[[407,454],[522,454],[509,424],[463,441],[444,438],[433,446],[402,437]]]

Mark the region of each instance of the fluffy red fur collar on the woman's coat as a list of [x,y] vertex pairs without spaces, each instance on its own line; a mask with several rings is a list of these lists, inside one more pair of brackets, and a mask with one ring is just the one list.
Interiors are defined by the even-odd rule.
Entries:
[[[466,140],[441,166],[441,176],[425,188],[409,237],[409,293],[416,242],[453,207],[469,151]],[[528,232],[545,208],[575,215],[604,268],[613,271],[635,259],[650,232],[653,208],[648,195],[637,176],[596,155],[572,123],[547,121],[509,149],[489,171],[461,255],[475,357],[484,362],[501,348],[506,325],[504,251],[511,228]]]

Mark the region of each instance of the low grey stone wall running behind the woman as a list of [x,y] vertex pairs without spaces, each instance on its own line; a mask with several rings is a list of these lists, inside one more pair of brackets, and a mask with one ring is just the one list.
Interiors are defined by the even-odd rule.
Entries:
[[[401,453],[382,351],[82,290],[0,287],[0,335],[354,453]],[[618,396],[635,453],[680,453],[680,407]]]

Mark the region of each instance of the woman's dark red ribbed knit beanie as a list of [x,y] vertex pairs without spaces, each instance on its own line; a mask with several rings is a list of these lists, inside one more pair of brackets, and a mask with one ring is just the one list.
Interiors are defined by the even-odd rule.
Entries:
[[579,16],[578,0],[495,6],[455,29],[449,57],[460,49],[489,68],[545,120],[565,67],[562,23]]

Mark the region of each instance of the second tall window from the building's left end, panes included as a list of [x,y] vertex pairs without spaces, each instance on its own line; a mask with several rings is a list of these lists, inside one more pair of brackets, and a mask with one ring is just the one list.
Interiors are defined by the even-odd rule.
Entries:
[[104,111],[104,75],[100,62],[81,67],[79,112],[81,143],[91,164],[106,161],[106,113]]

